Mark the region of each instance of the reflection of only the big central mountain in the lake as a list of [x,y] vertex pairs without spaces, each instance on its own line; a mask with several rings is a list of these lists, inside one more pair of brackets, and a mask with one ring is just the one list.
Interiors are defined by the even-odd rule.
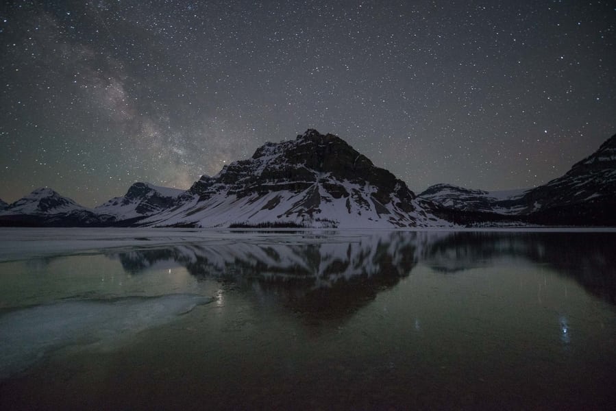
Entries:
[[417,264],[421,233],[387,232],[311,242],[189,244],[113,255],[130,273],[174,261],[199,278],[250,290],[301,313],[345,316],[395,286]]

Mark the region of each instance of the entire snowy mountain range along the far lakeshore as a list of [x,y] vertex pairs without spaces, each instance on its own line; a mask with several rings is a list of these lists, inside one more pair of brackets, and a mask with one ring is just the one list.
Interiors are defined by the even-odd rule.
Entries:
[[50,188],[12,204],[4,226],[396,228],[616,225],[616,136],[563,177],[530,190],[486,192],[437,184],[415,195],[344,140],[308,129],[268,142],[188,190],[133,184],[96,208]]

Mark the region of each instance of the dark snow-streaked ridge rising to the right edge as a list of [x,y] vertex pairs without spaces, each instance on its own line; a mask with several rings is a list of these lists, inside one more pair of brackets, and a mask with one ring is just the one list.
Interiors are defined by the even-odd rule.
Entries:
[[616,225],[616,135],[562,177],[530,190],[486,192],[436,184],[419,197],[435,203],[436,214],[456,222]]

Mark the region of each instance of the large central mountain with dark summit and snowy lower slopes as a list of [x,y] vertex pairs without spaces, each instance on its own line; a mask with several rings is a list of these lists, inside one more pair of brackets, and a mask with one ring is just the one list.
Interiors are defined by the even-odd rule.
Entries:
[[449,225],[432,204],[333,134],[308,129],[204,175],[154,226],[417,227]]

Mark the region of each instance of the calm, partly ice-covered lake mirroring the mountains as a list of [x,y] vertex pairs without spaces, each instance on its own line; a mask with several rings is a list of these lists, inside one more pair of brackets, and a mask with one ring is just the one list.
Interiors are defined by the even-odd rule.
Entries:
[[616,233],[7,233],[2,410],[616,403]]

